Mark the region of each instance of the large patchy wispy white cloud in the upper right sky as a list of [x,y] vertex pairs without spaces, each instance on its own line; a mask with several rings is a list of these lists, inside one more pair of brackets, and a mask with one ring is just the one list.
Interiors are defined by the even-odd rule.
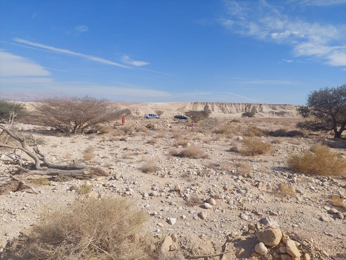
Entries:
[[[305,1],[308,4],[311,1]],[[318,5],[327,2],[315,1]],[[227,17],[221,20],[226,28],[260,41],[289,44],[295,57],[313,57],[330,66],[346,66],[346,25],[309,23],[284,13],[283,7],[261,1],[226,1]],[[316,4],[317,5],[317,4]]]

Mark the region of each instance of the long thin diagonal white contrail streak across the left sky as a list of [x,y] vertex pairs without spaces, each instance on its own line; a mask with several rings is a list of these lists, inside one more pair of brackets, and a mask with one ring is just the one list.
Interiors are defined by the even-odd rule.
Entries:
[[40,47],[43,49],[37,49],[37,48],[33,48],[33,47],[29,47],[29,46],[24,46],[24,45],[20,45],[20,44],[15,44],[15,43],[8,43],[8,42],[3,42],[3,43],[7,43],[7,44],[13,44],[13,45],[18,45],[21,47],[26,47],[26,48],[30,48],[30,49],[35,49],[35,50],[39,50],[39,51],[47,51],[47,52],[53,52],[53,53],[58,53],[58,54],[63,54],[63,55],[70,55],[70,56],[75,56],[75,57],[81,57],[81,58],[85,58],[88,60],[92,60],[95,62],[100,62],[100,63],[104,63],[104,64],[108,64],[108,65],[113,65],[113,66],[118,66],[118,67],[122,67],[122,68],[126,68],[126,69],[137,69],[137,70],[145,70],[145,71],[151,71],[151,72],[155,72],[155,73],[160,73],[160,74],[164,74],[164,75],[169,75],[169,76],[174,76],[174,77],[180,77],[174,74],[169,74],[169,73],[165,73],[165,72],[160,72],[160,71],[156,71],[156,70],[149,70],[149,69],[144,69],[144,68],[138,68],[138,67],[133,67],[133,66],[127,66],[127,65],[123,65],[117,62],[113,62],[110,60],[106,60],[103,58],[99,58],[99,57],[95,57],[93,55],[88,55],[88,54],[84,54],[84,53],[79,53],[79,52],[74,52],[74,51],[70,51],[70,50],[66,50],[66,49],[60,49],[60,48],[56,48],[53,46],[48,46],[48,45],[44,45],[44,44],[40,44],[40,43],[35,43],[35,42],[30,42],[27,40],[23,40],[21,38],[15,38],[13,39],[16,42],[20,42],[20,43],[24,43],[30,46],[36,46],[36,47]]

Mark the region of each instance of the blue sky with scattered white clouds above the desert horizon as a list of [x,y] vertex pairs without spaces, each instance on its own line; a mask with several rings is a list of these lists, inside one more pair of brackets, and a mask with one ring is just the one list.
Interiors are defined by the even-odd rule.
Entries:
[[346,0],[0,0],[0,91],[304,104],[346,83]]

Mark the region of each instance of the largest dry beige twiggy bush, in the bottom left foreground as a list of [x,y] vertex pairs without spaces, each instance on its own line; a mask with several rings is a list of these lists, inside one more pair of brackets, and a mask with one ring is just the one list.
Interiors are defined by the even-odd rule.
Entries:
[[41,218],[24,249],[27,259],[151,259],[152,241],[138,233],[146,217],[124,199],[74,202]]

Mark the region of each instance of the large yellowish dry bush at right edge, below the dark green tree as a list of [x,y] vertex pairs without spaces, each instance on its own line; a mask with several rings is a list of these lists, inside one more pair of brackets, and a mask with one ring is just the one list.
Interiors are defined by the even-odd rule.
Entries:
[[302,155],[293,154],[287,164],[296,172],[319,175],[342,175],[346,172],[346,161],[335,158],[329,147],[321,144],[312,145],[310,151]]

